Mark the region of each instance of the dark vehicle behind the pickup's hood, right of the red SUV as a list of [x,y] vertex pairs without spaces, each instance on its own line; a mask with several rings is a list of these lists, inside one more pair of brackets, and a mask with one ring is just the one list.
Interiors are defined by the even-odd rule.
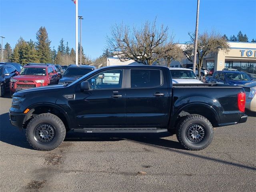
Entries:
[[95,70],[94,66],[88,65],[71,65],[69,66],[62,78],[59,81],[59,84],[72,83],[80,77],[90,73],[92,70]]

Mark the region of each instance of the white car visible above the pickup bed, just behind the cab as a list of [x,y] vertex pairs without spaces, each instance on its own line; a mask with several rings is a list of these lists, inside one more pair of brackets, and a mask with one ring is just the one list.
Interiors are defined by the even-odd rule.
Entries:
[[194,84],[194,83],[203,83],[202,81],[198,80],[196,74],[187,68],[169,68],[172,74],[172,83],[187,83],[187,84]]

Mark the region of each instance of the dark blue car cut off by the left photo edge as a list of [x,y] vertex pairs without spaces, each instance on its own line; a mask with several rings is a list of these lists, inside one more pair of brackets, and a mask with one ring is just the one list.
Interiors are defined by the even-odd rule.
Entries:
[[10,90],[10,79],[18,74],[12,65],[0,64],[0,97]]

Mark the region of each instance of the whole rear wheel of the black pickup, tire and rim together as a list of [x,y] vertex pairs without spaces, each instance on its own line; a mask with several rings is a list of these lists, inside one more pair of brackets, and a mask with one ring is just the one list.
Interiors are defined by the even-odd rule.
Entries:
[[188,150],[202,150],[213,139],[213,128],[210,121],[201,115],[188,115],[177,127],[177,139]]

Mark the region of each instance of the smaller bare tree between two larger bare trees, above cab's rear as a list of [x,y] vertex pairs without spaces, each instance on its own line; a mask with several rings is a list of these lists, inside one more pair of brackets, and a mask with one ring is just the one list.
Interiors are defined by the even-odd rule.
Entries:
[[172,61],[182,61],[185,56],[178,44],[167,44],[160,54],[159,64],[170,67]]

